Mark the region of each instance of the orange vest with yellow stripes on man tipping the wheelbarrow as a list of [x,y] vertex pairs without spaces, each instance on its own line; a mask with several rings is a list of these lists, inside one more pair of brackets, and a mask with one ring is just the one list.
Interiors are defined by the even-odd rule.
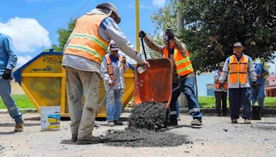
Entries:
[[[168,48],[165,46],[163,50],[164,56],[168,59]],[[186,50],[187,56],[182,56],[181,52],[175,48],[175,52],[173,53],[173,59],[175,61],[175,65],[177,67],[177,74],[179,76],[184,76],[186,74],[190,74],[194,72],[193,65],[190,61],[190,53]]]

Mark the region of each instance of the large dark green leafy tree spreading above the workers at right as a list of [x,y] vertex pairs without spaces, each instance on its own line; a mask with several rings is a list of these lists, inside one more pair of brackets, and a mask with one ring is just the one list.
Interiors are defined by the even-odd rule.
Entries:
[[[233,43],[241,41],[246,54],[272,61],[276,50],[276,1],[274,0],[173,0],[155,12],[157,30],[175,27],[181,10],[184,28],[177,36],[188,45],[197,72],[211,72],[233,54]],[[176,28],[176,27],[175,27]],[[176,32],[176,31],[175,31]]]

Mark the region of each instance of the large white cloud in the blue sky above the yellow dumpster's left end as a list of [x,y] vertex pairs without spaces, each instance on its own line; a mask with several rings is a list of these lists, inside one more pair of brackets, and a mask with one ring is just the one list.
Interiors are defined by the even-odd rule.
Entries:
[[0,32],[8,34],[15,50],[34,52],[37,49],[50,47],[49,32],[36,19],[14,17],[6,23],[0,22]]

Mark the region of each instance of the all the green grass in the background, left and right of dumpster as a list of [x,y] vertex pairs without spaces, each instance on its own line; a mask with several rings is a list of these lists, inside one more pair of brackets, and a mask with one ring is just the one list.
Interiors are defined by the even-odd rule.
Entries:
[[[26,95],[12,95],[14,101],[20,109],[35,108],[28,96]],[[131,99],[133,101],[133,98]],[[227,100],[227,105],[229,106],[229,100]],[[203,108],[214,108],[215,107],[215,96],[199,96],[199,106]],[[264,107],[276,108],[276,97],[266,97],[264,98]],[[0,109],[6,109],[0,98]]]

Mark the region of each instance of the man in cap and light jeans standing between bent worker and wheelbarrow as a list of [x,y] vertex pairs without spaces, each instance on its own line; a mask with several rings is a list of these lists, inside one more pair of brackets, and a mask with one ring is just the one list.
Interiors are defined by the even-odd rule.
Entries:
[[108,121],[110,127],[123,125],[119,118],[123,107],[121,99],[126,87],[124,72],[128,70],[128,63],[126,62],[126,56],[118,54],[118,51],[119,47],[116,43],[110,43],[110,52],[103,57],[101,62],[101,77],[106,92],[108,92],[106,97],[106,121]]

